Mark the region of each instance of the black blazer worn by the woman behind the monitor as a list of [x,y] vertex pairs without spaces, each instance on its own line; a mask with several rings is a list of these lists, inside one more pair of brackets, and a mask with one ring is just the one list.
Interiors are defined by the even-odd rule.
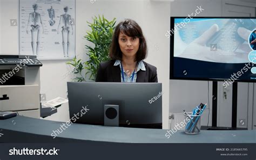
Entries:
[[[115,60],[106,61],[99,64],[96,82],[121,82],[120,66],[114,66]],[[137,72],[136,82],[158,82],[157,68],[144,62],[146,71]]]

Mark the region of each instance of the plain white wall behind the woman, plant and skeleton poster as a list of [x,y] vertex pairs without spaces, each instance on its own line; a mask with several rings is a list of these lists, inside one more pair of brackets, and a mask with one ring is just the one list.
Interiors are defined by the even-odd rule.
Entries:
[[[5,14],[1,27],[2,53],[18,54],[18,28],[9,27],[9,19],[18,18],[18,0],[0,0],[0,13]],[[11,4],[11,5],[10,5]],[[168,126],[169,116],[169,39],[165,32],[170,28],[170,2],[151,1],[76,1],[76,54],[86,60],[84,45],[89,44],[83,39],[89,30],[86,21],[98,14],[107,19],[117,18],[117,22],[124,18],[137,21],[142,27],[149,46],[149,56],[145,60],[158,69],[158,81],[163,83],[163,127]],[[66,97],[66,82],[71,77],[63,79],[65,72],[71,70],[65,60],[42,60],[41,93],[46,93],[47,99],[57,96]],[[68,104],[58,108],[58,113],[49,120],[66,121],[69,119]]]

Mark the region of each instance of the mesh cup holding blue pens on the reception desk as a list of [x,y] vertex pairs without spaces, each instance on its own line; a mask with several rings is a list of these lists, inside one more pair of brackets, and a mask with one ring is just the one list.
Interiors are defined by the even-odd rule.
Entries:
[[193,115],[192,112],[184,112],[184,115],[188,121],[184,132],[187,134],[199,134],[201,115]]

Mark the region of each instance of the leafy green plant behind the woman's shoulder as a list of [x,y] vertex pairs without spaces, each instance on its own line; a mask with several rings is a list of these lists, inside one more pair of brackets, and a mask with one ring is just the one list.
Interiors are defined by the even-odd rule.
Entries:
[[[93,47],[85,45],[85,48],[87,49],[86,55],[89,56],[89,60],[82,62],[81,59],[75,57],[70,62],[66,62],[66,64],[75,67],[73,73],[76,75],[76,78],[73,78],[73,81],[86,81],[88,75],[89,79],[95,81],[99,64],[110,60],[109,48],[112,41],[114,25],[116,24],[116,18],[113,18],[111,21],[107,20],[104,16],[94,17],[92,19],[93,23],[87,21],[91,31],[87,31],[87,35],[84,36],[87,41],[94,44]],[[83,76],[82,71],[84,69],[86,72]]]

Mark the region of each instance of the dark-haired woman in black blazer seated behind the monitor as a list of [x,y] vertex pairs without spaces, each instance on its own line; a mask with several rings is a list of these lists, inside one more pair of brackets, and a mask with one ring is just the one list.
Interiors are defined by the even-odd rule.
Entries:
[[96,82],[158,82],[157,68],[143,61],[147,45],[136,21],[116,26],[109,55],[112,60],[100,63]]

